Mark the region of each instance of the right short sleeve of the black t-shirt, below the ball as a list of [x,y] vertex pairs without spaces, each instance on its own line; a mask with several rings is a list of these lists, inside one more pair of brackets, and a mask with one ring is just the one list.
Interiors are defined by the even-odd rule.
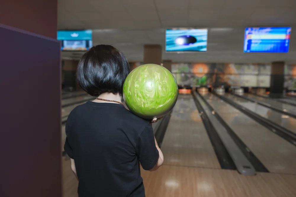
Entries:
[[139,136],[138,154],[144,170],[151,170],[158,161],[159,152],[155,146],[153,129],[150,124],[144,128]]

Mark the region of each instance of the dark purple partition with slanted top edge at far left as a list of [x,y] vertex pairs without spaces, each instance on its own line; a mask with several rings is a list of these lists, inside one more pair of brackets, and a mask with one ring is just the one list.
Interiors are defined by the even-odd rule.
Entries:
[[0,196],[61,197],[60,44],[0,24]]

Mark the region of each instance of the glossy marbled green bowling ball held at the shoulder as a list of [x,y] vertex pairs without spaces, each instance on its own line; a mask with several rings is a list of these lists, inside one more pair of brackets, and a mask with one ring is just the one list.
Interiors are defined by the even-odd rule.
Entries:
[[135,68],[123,84],[123,99],[128,109],[144,119],[160,118],[173,109],[178,84],[163,66],[144,64]]

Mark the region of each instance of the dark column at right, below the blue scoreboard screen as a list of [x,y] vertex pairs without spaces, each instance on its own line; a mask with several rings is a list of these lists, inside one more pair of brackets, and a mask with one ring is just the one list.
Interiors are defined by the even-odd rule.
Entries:
[[284,96],[284,65],[285,62],[271,63],[270,98],[282,98]]

